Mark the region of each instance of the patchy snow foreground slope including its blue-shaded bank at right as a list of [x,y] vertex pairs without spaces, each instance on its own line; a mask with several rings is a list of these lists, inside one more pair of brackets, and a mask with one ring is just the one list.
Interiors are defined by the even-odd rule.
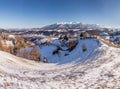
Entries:
[[[88,52],[80,51],[83,42]],[[59,65],[38,63],[0,51],[0,89],[119,89],[120,49],[95,40],[83,42],[77,45],[76,53],[73,50],[68,58],[61,58],[71,61]]]

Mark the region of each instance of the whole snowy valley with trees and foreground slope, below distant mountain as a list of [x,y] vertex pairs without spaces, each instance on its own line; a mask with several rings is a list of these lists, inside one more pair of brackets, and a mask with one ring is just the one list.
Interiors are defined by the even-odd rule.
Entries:
[[81,27],[2,32],[0,89],[119,89],[119,31]]

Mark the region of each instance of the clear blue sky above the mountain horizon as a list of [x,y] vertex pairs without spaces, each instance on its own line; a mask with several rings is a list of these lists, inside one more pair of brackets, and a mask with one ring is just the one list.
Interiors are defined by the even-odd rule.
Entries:
[[42,27],[57,22],[120,26],[120,0],[0,0],[1,28]]

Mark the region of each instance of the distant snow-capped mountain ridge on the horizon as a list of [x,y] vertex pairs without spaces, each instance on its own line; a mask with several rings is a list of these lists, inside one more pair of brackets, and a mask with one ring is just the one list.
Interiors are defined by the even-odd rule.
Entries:
[[42,27],[44,30],[59,30],[59,29],[100,29],[102,26],[98,24],[83,24],[81,22],[62,22],[47,25]]

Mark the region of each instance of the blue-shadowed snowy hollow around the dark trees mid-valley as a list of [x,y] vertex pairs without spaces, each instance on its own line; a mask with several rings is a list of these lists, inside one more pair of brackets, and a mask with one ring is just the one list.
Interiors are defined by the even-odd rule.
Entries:
[[[86,40],[79,40],[78,45],[75,49],[71,52],[66,49],[65,47],[61,46],[61,42],[59,40],[55,40],[52,42],[54,45],[45,45],[40,48],[40,53],[42,57],[46,57],[49,63],[56,63],[56,64],[65,64],[71,62],[78,62],[81,60],[86,59],[86,57],[92,53],[92,51],[100,46],[100,44],[95,39],[86,39]],[[82,51],[82,45],[85,44],[87,47],[87,51]],[[56,49],[56,45],[59,45],[63,50],[60,51],[60,55],[53,55],[53,51]],[[66,56],[67,54],[67,56]]]

